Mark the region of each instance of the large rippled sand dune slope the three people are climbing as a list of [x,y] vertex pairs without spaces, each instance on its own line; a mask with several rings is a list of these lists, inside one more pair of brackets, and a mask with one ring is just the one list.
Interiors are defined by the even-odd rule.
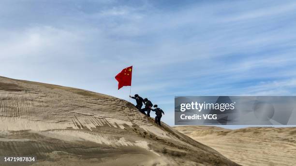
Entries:
[[238,166],[125,100],[5,77],[0,156],[36,156],[31,166]]

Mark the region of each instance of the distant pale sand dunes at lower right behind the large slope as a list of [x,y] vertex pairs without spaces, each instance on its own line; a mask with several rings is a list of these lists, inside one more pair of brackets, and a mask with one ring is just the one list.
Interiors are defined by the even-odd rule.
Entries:
[[174,128],[242,166],[296,166],[296,127]]

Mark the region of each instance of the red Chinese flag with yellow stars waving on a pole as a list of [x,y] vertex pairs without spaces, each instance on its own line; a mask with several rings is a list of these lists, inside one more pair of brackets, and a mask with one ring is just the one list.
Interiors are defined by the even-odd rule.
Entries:
[[115,79],[118,81],[118,89],[122,88],[122,86],[132,86],[132,71],[133,66],[130,66],[115,76]]

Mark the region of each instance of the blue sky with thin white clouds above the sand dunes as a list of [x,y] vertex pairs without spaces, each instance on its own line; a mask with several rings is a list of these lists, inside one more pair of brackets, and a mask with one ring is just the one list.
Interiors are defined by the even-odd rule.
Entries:
[[295,95],[294,0],[1,0],[0,75],[128,100]]

